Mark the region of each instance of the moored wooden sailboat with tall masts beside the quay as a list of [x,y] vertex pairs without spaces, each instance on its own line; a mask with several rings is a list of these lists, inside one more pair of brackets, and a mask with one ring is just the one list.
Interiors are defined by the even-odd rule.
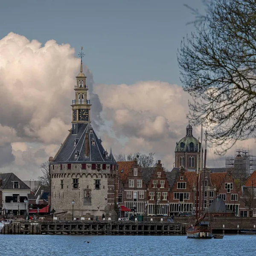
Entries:
[[[212,230],[209,221],[203,221],[206,213],[204,213],[201,216],[201,187],[202,187],[202,169],[203,169],[203,161],[202,161],[202,137],[203,137],[203,122],[201,125],[201,149],[200,149],[200,172],[199,172],[199,161],[197,161],[197,185],[196,185],[196,222],[194,225],[189,225],[186,228],[186,235],[187,238],[196,238],[196,239],[211,239],[212,236]],[[207,132],[205,133],[205,148],[204,148],[204,172],[205,172],[205,167],[206,167],[206,150],[207,150]],[[198,157],[199,159],[199,138],[198,138]],[[198,176],[199,176],[199,213],[198,213]],[[204,188],[204,186],[203,186]],[[204,206],[204,204],[202,204]],[[202,212],[203,212],[203,207],[202,207]]]

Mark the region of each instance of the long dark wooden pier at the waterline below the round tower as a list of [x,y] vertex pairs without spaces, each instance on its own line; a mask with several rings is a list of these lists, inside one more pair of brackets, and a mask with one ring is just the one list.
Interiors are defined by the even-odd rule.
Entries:
[[134,221],[21,221],[5,225],[2,234],[49,235],[176,235],[184,234],[181,223]]

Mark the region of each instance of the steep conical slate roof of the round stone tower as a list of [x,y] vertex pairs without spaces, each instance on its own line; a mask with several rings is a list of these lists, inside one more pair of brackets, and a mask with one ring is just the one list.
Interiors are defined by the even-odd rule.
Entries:
[[[105,156],[106,151],[101,144],[102,140],[98,139],[89,123],[77,124],[77,132],[74,131],[74,127],[73,125],[73,130],[70,131],[51,163],[116,163],[112,152],[108,158]],[[87,142],[86,134],[88,134]],[[95,145],[92,145],[92,140],[95,141]],[[89,143],[89,156],[85,156],[86,143]],[[79,151],[77,158],[75,158],[76,151]]]

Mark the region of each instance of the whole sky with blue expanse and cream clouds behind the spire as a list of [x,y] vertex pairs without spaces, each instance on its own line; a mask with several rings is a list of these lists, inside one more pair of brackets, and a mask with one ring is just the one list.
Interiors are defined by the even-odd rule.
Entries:
[[[188,123],[177,49],[194,27],[184,4],[204,10],[201,0],[1,3],[0,172],[36,179],[57,152],[71,128],[81,46],[103,146],[113,154],[155,152],[172,169]],[[198,137],[199,128],[193,133]],[[255,142],[238,146],[253,149]],[[209,166],[223,167],[213,151]]]

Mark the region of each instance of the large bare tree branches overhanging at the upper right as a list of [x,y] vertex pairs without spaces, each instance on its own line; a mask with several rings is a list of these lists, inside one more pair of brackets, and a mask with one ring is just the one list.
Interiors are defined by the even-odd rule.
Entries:
[[192,96],[189,119],[211,126],[224,154],[237,140],[256,136],[256,2],[209,0],[195,14],[195,32],[178,50],[183,88]]

